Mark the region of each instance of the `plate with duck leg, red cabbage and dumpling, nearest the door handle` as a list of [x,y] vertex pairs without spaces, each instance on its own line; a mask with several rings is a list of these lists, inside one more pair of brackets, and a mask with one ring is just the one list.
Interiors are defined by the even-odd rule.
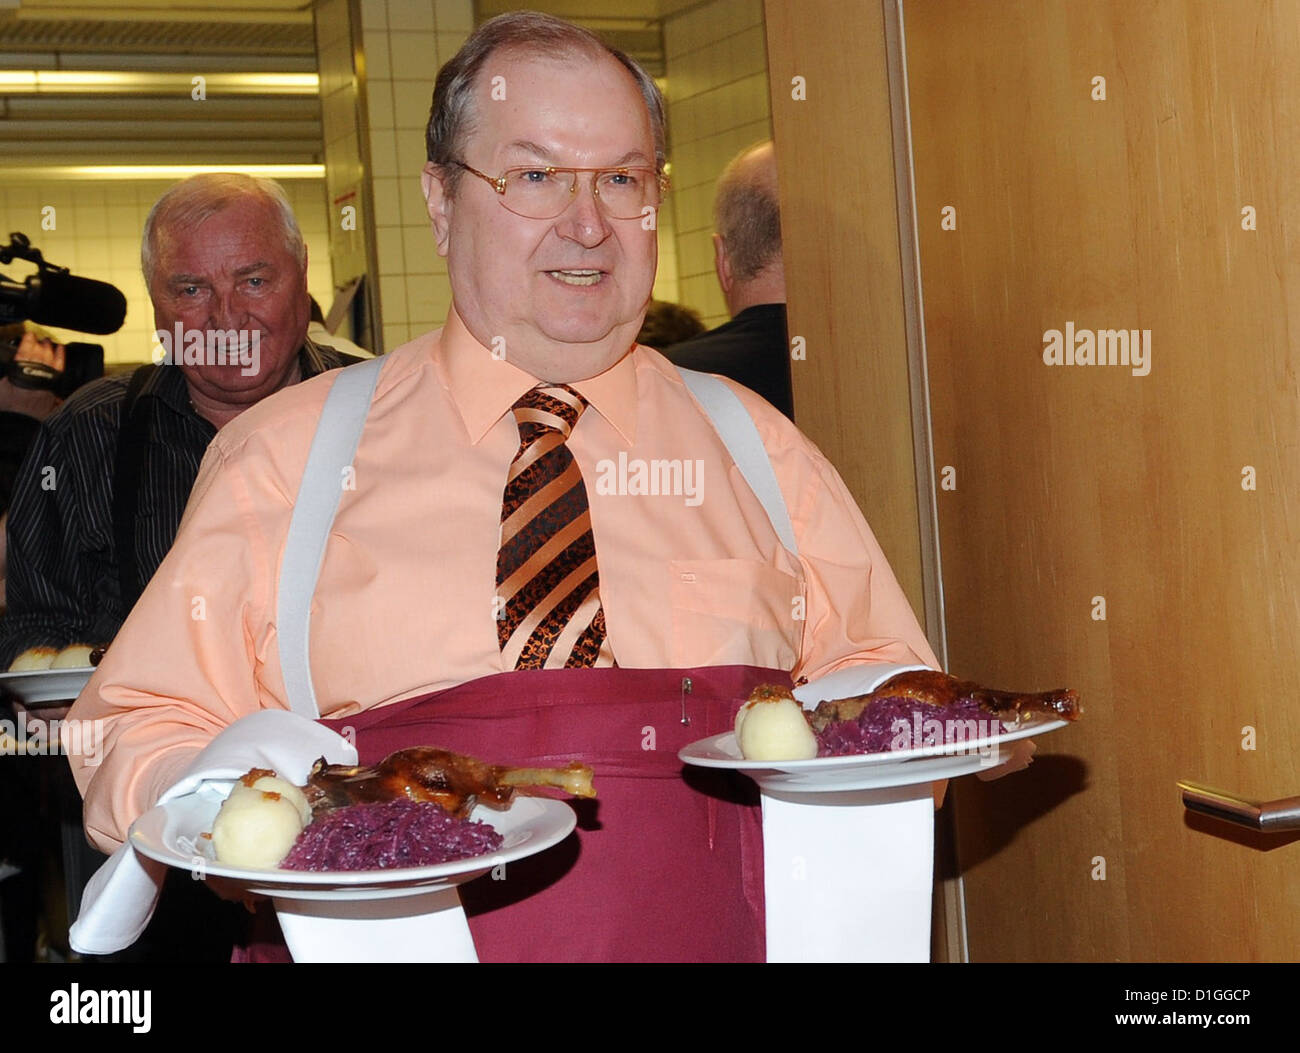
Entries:
[[1072,690],[997,692],[913,670],[868,694],[812,710],[788,689],[758,688],[733,731],[677,755],[697,767],[744,772],[774,790],[902,786],[997,767],[1013,742],[1063,728],[1080,712]]

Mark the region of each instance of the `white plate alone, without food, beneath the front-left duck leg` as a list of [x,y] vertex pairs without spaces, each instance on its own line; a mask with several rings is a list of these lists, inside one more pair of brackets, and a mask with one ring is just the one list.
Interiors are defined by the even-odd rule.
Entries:
[[504,811],[480,805],[469,814],[471,819],[482,819],[504,838],[500,849],[488,855],[432,867],[394,870],[257,870],[216,862],[212,838],[199,836],[212,829],[212,820],[221,802],[221,794],[199,790],[165,805],[156,805],[131,824],[131,844],[160,863],[199,871],[205,876],[226,878],[263,896],[294,900],[389,900],[422,896],[459,885],[500,863],[543,852],[568,837],[577,824],[573,809],[563,801],[516,797]]

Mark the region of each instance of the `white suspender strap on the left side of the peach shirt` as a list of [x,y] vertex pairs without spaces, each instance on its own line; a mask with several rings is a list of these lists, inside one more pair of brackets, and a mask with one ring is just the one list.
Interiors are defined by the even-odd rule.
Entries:
[[289,523],[276,590],[280,668],[289,707],[309,720],[320,716],[312,688],[311,614],[334,515],[343,497],[343,471],[352,463],[384,359],[337,372],[316,424],[307,468]]

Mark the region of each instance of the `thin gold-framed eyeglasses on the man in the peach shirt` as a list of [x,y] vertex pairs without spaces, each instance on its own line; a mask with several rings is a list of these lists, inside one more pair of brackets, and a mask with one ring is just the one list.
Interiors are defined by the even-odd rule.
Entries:
[[450,164],[477,176],[500,195],[500,203],[525,220],[554,220],[577,195],[577,176],[592,173],[592,194],[615,220],[640,220],[646,209],[659,207],[668,191],[668,177],[649,166],[630,168],[507,168],[498,178],[485,176],[464,161]]

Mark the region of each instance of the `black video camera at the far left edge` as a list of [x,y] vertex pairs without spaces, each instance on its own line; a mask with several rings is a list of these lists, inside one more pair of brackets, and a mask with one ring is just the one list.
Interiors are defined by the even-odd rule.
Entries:
[[[0,274],[0,325],[34,321],[79,333],[116,333],[126,320],[126,298],[113,285],[78,278],[66,266],[46,263],[26,234],[10,234],[0,246],[0,264],[16,259],[36,264],[22,282]],[[43,387],[66,398],[86,381],[104,376],[104,348],[98,343],[69,343],[62,373],[42,363],[16,361],[18,341],[0,339],[0,376],[20,387]]]

